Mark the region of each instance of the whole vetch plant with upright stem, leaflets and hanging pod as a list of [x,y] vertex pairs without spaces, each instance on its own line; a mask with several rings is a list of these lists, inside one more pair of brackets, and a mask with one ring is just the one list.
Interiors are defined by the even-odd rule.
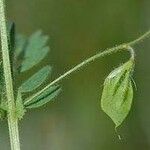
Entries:
[[[16,82],[20,74],[32,69],[49,52],[48,36],[41,31],[33,33],[29,38],[15,32],[14,23],[5,17],[5,1],[0,0],[0,118],[8,120],[11,150],[20,150],[18,122],[28,109],[38,108],[50,102],[60,92],[60,81],[73,72],[83,68],[104,56],[128,51],[130,59],[114,69],[105,79],[101,96],[102,110],[112,119],[117,128],[127,117],[133,101],[133,71],[135,66],[135,52],[133,47],[150,36],[150,31],[138,39],[108,48],[79,63],[44,88],[40,88],[52,72],[50,65],[35,72],[22,85]],[[29,95],[32,93],[31,95]],[[29,96],[28,96],[29,95]],[[27,97],[28,96],[28,97]]]

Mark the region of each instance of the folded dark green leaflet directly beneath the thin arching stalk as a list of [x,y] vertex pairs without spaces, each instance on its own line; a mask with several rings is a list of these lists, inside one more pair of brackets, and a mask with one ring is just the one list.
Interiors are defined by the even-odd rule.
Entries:
[[35,96],[32,100],[26,100],[24,102],[24,106],[26,108],[37,108],[43,106],[44,104],[50,102],[53,98],[55,98],[60,93],[60,91],[60,86],[51,86],[41,94],[38,94],[38,96]]

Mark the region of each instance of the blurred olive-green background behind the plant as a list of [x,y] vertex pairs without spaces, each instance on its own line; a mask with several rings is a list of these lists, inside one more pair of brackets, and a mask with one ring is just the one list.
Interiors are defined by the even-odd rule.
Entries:
[[[51,80],[85,58],[135,39],[150,28],[150,0],[7,0],[10,20],[26,35],[50,35]],[[119,129],[100,109],[107,74],[129,56],[107,56],[72,74],[55,102],[29,111],[20,122],[22,150],[150,150],[150,39],[136,46],[132,111]],[[0,149],[9,150],[7,123],[0,126]]]

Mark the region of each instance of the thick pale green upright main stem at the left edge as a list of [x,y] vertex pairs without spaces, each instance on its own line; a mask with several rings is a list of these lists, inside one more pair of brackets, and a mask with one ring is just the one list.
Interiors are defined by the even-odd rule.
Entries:
[[20,150],[18,119],[15,115],[16,107],[15,107],[13,80],[9,58],[4,2],[5,2],[4,0],[0,0],[0,32],[1,32],[2,60],[3,60],[6,97],[8,103],[8,127],[9,127],[11,150]]

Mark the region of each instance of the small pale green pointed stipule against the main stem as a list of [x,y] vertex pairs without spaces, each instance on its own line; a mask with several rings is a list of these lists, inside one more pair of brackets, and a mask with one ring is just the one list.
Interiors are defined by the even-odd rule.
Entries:
[[17,100],[16,100],[16,117],[21,120],[25,114],[26,110],[23,105],[23,100],[21,96],[21,92],[18,91]]

